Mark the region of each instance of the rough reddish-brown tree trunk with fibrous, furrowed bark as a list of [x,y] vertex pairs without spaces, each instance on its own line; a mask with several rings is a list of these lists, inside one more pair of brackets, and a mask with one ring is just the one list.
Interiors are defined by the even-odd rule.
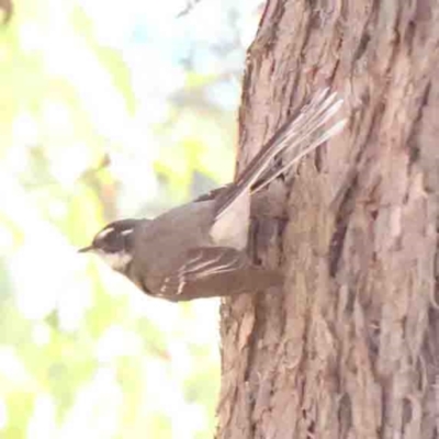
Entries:
[[349,125],[259,228],[284,292],[222,306],[218,438],[439,437],[438,23],[439,0],[268,0],[239,168],[324,86]]

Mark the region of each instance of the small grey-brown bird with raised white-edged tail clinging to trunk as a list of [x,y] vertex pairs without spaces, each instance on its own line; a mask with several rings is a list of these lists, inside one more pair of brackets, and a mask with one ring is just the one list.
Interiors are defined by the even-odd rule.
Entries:
[[[229,296],[282,283],[277,270],[247,256],[251,194],[340,132],[324,127],[342,101],[328,89],[314,95],[262,146],[237,180],[154,219],[122,219],[99,232],[89,247],[146,294],[169,301]],[[273,160],[288,150],[286,162]]]

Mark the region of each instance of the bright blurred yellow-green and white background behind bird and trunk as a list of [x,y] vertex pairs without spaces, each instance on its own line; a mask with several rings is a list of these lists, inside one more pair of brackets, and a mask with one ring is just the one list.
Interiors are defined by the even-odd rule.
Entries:
[[0,438],[213,437],[218,302],[76,252],[232,179],[261,1],[189,9],[15,0],[0,26]]

